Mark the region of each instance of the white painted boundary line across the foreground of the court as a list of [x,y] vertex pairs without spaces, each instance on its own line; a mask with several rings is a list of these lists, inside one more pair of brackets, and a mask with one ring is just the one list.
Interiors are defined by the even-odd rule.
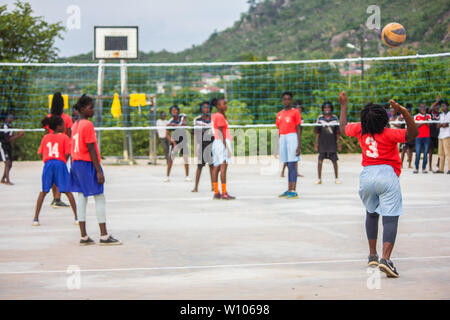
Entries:
[[[429,256],[429,257],[398,257],[396,261],[414,261],[427,259],[450,259],[450,256]],[[126,271],[176,271],[176,270],[201,270],[201,269],[226,269],[226,268],[252,268],[252,267],[274,267],[274,266],[295,266],[308,264],[338,264],[366,262],[366,259],[341,259],[341,260],[311,260],[311,261],[293,261],[293,262],[267,262],[267,263],[243,263],[243,264],[223,264],[223,265],[204,265],[204,266],[179,266],[179,267],[138,267],[138,268],[109,268],[109,269],[81,269],[80,273],[96,272],[126,272]],[[73,265],[72,265],[73,266]],[[0,271],[2,275],[26,275],[26,274],[72,274],[73,270],[35,270],[35,271]]]

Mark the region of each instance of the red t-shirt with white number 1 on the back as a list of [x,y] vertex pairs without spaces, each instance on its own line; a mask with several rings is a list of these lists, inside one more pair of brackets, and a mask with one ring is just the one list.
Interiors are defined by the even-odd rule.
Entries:
[[97,145],[97,136],[95,135],[94,125],[86,119],[81,119],[72,126],[72,159],[73,160],[91,160],[88,150],[88,143],[95,143],[97,150],[98,162],[100,163],[100,152]]

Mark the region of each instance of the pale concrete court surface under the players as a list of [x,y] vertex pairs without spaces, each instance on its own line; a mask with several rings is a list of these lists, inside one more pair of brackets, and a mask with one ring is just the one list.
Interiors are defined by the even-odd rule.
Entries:
[[[366,268],[360,155],[340,157],[342,185],[329,162],[324,184],[314,185],[316,156],[303,156],[298,200],[277,198],[287,178],[262,175],[267,165],[229,168],[233,202],[211,200],[206,170],[193,194],[181,165],[170,183],[162,182],[162,165],[105,165],[118,247],[80,247],[71,210],[52,209],[50,196],[41,226],[32,227],[42,164],[16,162],[16,185],[0,185],[0,298],[449,299],[450,176],[404,171],[392,257],[400,278],[378,278]],[[88,229],[98,241],[94,210],[91,199]],[[79,289],[67,286],[71,265],[81,270]]]

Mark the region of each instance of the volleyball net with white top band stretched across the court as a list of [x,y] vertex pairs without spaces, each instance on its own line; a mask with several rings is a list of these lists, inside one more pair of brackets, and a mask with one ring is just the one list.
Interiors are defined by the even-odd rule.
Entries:
[[[15,114],[15,127],[36,130],[49,113],[49,98],[65,95],[65,112],[83,93],[96,99],[100,130],[152,129],[160,111],[178,105],[192,125],[203,102],[226,98],[236,127],[273,125],[281,94],[293,93],[305,125],[347,92],[349,120],[368,102],[395,99],[427,106],[449,94],[450,53],[301,61],[217,63],[0,63],[0,110]],[[214,110],[213,110],[214,111]],[[338,111],[338,110],[336,110]]]

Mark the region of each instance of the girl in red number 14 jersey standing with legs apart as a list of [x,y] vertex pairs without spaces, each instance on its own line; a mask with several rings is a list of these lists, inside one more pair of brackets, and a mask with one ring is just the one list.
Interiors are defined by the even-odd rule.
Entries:
[[42,171],[42,191],[36,203],[33,226],[39,226],[39,213],[42,202],[52,186],[56,185],[60,192],[66,194],[72,206],[75,223],[77,220],[77,207],[75,199],[69,192],[69,171],[67,170],[67,157],[70,155],[70,139],[64,132],[64,121],[60,116],[45,117],[43,127],[49,127],[52,133],[46,134],[41,141],[38,153],[42,154],[44,170]]

